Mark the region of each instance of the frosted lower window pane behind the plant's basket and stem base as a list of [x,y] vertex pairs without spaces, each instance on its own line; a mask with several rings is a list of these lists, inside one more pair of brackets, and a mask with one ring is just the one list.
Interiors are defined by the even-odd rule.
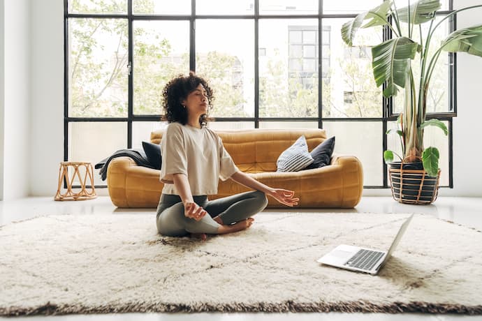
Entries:
[[[445,126],[448,128],[448,121],[444,121]],[[400,126],[397,126],[395,121],[389,121],[387,124],[388,129],[398,130]],[[402,155],[402,144],[400,143],[400,136],[395,133],[387,135],[387,147],[391,151],[395,151],[400,157]],[[437,147],[440,153],[439,167],[440,167],[440,181],[439,186],[448,186],[448,136],[444,135],[444,132],[435,126],[425,127],[423,130],[423,145],[427,147]],[[395,156],[395,161],[400,159]]]

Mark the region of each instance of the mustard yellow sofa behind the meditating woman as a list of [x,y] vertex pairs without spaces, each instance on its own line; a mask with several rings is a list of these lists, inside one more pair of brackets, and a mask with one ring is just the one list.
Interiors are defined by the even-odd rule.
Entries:
[[[363,191],[363,167],[355,156],[333,155],[330,165],[300,172],[276,172],[279,154],[305,135],[308,149],[326,140],[323,129],[268,130],[251,129],[217,131],[224,147],[242,172],[249,173],[263,184],[295,191],[300,198],[296,207],[352,208],[360,202]],[[151,133],[151,142],[161,142],[162,130]],[[117,207],[156,207],[163,184],[160,170],[141,167],[128,157],[111,160],[107,171],[108,191]],[[231,181],[219,180],[217,195],[210,200],[249,191]],[[268,207],[282,208],[272,197]]]

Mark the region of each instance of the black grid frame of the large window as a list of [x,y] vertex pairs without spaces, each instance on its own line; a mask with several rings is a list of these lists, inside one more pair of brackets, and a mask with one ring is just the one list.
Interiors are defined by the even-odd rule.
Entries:
[[[161,114],[134,114],[133,113],[133,75],[135,73],[135,66],[133,66],[133,22],[136,20],[181,20],[189,21],[189,68],[196,71],[196,20],[205,19],[248,19],[254,20],[254,117],[216,117],[216,121],[251,121],[254,122],[254,128],[259,128],[260,121],[317,121],[319,128],[323,128],[323,121],[381,121],[383,137],[383,150],[387,149],[387,124],[388,121],[395,121],[398,114],[393,112],[393,100],[391,98],[381,97],[382,116],[375,118],[323,118],[322,110],[322,81],[323,80],[323,31],[325,27],[322,22],[329,18],[353,18],[357,13],[353,14],[323,14],[323,0],[319,0],[318,13],[313,15],[260,15],[260,0],[254,0],[254,14],[252,15],[196,15],[196,0],[191,0],[191,14],[190,15],[143,15],[133,14],[133,0],[127,1],[126,14],[102,14],[102,13],[68,13],[68,0],[64,0],[64,160],[68,160],[68,125],[75,122],[89,122],[89,121],[120,121],[127,125],[127,148],[132,147],[132,128],[133,123],[137,121],[159,121]],[[448,10],[440,11],[437,15],[448,15],[453,12],[453,0],[448,0]],[[113,18],[126,19],[128,21],[128,36],[129,36],[129,72],[128,82],[128,113],[127,117],[70,117],[68,115],[68,20],[71,18]],[[259,34],[259,20],[269,19],[316,19],[318,21],[318,29],[316,35],[317,50],[318,50],[318,117],[304,117],[304,118],[283,118],[283,117],[259,117],[259,65],[258,65],[258,34]],[[456,15],[453,15],[449,20],[451,30],[456,29]],[[383,38],[387,40],[391,37],[390,30],[386,27],[383,31]],[[261,48],[263,49],[263,48]],[[427,115],[428,119],[437,118],[441,121],[448,121],[448,186],[441,186],[445,188],[453,188],[453,117],[457,116],[457,55],[448,54],[448,104],[450,110],[443,113],[430,113]],[[188,71],[188,70],[186,70]],[[383,157],[382,153],[379,157]],[[364,188],[390,188],[388,184],[387,166],[383,163],[383,185],[380,186],[364,186]],[[95,188],[105,188],[106,185],[96,185]]]

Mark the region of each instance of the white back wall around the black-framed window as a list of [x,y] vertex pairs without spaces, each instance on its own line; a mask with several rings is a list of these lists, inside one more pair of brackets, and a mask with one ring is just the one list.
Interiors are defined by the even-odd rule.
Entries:
[[[6,0],[14,2],[13,0]],[[456,0],[458,7],[475,0]],[[20,5],[18,5],[20,6]],[[31,6],[31,195],[53,196],[57,190],[59,162],[64,143],[64,28],[63,1],[30,1]],[[481,10],[460,15],[458,27],[480,23]],[[454,188],[440,195],[482,197],[482,158],[477,121],[482,119],[479,91],[482,88],[482,58],[458,55],[458,117],[453,121]],[[18,130],[15,131],[17,133]],[[13,137],[6,132],[6,135]],[[95,143],[95,142],[92,142]],[[6,155],[17,161],[17,155]],[[365,190],[364,195],[390,195],[388,189]]]

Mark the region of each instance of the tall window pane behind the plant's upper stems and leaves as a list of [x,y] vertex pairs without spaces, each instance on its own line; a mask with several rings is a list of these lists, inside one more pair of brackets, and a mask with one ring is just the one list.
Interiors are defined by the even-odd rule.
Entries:
[[[436,24],[438,21],[440,21],[442,18],[437,17],[435,20],[434,24]],[[448,19],[447,19],[448,20]],[[435,29],[435,32],[433,33],[432,40],[431,40],[431,45],[430,45],[430,50],[428,52],[428,63],[430,62],[430,59],[432,58],[434,52],[436,52],[439,47],[440,43],[442,40],[448,36],[450,33],[450,24],[449,22],[443,22],[440,24],[440,26]],[[425,35],[428,32],[428,29],[430,27],[429,24],[421,24],[422,27],[422,35],[423,35],[423,40],[425,43]],[[407,27],[406,24],[402,24],[402,33],[407,32]],[[412,37],[415,41],[420,43],[420,35],[418,32],[414,33],[414,36]],[[416,55],[416,59],[411,61],[411,66],[412,70],[414,73],[414,79],[418,80],[420,78],[420,54]],[[449,77],[449,67],[448,67],[448,53],[447,52],[441,52],[439,59],[437,60],[437,64],[434,68],[434,71],[432,73],[432,79],[430,80],[430,87],[428,87],[428,95],[427,95],[427,112],[450,112],[450,104],[448,102],[449,98],[449,87],[448,87],[448,77]],[[418,94],[418,82],[416,82],[416,93]],[[399,94],[395,96],[393,99],[393,112],[395,114],[400,114],[402,112],[404,104],[404,91],[400,90]]]

